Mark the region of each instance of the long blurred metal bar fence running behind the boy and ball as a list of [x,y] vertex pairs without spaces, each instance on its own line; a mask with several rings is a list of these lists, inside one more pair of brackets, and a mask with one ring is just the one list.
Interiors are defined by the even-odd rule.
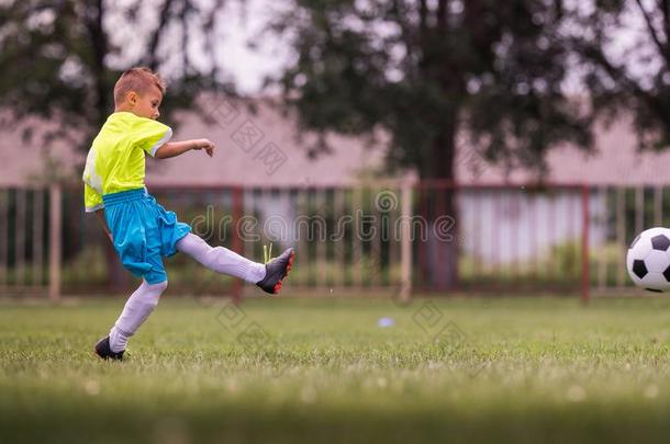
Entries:
[[[292,246],[291,288],[330,296],[411,292],[576,294],[630,289],[626,246],[667,223],[661,189],[576,185],[150,186],[211,244],[260,260]],[[82,208],[80,186],[0,190],[0,291],[125,293],[138,283]],[[667,225],[667,224],[666,224]],[[248,286],[190,258],[166,260],[170,292],[239,296]]]

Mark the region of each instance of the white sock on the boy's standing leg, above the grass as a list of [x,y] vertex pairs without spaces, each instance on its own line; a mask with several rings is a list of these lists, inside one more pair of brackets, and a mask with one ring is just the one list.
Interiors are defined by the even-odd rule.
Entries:
[[158,299],[167,288],[167,281],[158,284],[148,284],[142,281],[142,285],[129,297],[123,311],[116,323],[110,331],[110,348],[112,352],[119,353],[125,350],[127,340],[149,317],[158,305]]

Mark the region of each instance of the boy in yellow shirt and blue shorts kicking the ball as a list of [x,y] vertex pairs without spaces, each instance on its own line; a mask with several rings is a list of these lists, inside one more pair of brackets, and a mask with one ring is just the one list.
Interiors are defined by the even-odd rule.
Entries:
[[164,93],[165,83],[148,68],[125,71],[114,86],[114,113],[86,159],[86,212],[98,216],[123,265],[143,277],[110,334],[94,346],[103,360],[123,358],[129,338],[158,304],[167,288],[163,257],[185,252],[208,269],[255,283],[270,294],[279,293],[293,263],[291,248],[265,265],[223,247],[212,248],[148,194],[145,153],[167,159],[193,149],[212,157],[215,148],[208,139],[168,141],[172,130],[156,121]]

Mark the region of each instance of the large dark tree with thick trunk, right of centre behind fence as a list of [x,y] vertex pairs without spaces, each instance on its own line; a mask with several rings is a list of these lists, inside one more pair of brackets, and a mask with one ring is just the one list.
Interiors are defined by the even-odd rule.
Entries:
[[[294,52],[275,80],[302,128],[383,128],[389,166],[424,180],[454,181],[458,134],[489,161],[541,171],[559,143],[591,144],[589,116],[561,89],[562,12],[560,0],[295,0],[271,26]],[[440,198],[458,220],[454,194]],[[456,284],[456,249],[431,241],[433,287]]]

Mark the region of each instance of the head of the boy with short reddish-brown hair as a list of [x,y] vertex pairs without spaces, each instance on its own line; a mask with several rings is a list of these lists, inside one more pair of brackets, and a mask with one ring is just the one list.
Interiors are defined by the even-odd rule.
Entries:
[[165,93],[165,82],[148,68],[131,68],[114,86],[114,107],[139,117],[158,118],[158,106]]

